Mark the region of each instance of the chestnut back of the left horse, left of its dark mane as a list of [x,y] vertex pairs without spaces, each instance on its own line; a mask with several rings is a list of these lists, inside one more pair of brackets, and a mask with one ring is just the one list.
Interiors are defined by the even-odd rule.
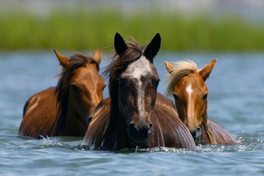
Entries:
[[55,87],[47,88],[31,96],[25,103],[19,135],[39,138],[51,135],[56,118]]

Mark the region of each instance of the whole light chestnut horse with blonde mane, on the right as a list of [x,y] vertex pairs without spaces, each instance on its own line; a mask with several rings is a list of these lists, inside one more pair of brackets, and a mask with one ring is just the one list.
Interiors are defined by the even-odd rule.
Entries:
[[188,127],[195,144],[236,144],[220,125],[207,119],[208,91],[206,79],[217,59],[198,69],[192,61],[164,62],[168,70],[167,96],[173,95],[179,118]]

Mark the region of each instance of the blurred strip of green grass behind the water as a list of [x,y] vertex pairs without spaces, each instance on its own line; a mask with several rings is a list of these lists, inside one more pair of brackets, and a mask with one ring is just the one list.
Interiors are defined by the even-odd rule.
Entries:
[[263,51],[264,25],[239,17],[211,19],[206,14],[185,17],[180,13],[144,13],[123,16],[118,11],[56,11],[40,17],[27,12],[0,15],[0,51],[94,50],[114,43],[119,32],[143,44],[159,32],[162,50]]

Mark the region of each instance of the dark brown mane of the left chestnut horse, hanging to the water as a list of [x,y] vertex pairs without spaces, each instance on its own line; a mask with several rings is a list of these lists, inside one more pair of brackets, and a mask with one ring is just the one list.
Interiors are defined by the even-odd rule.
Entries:
[[[68,65],[62,68],[62,72],[59,74],[59,80],[55,89],[55,97],[57,98],[57,115],[55,120],[55,136],[61,136],[64,133],[66,127],[66,118],[68,110],[68,93],[70,86],[70,79],[73,77],[76,69],[84,66],[87,63],[94,63],[99,71],[99,64],[91,57],[81,53],[74,54],[69,58]],[[56,124],[57,122],[57,124]]]

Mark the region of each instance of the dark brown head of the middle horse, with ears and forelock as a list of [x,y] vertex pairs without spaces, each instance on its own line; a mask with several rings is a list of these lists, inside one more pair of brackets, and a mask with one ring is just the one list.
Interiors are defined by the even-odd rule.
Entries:
[[160,49],[160,43],[160,34],[156,34],[146,47],[140,47],[135,41],[126,43],[116,33],[115,60],[105,72],[110,78],[112,115],[116,109],[116,114],[122,117],[128,136],[134,143],[146,143],[153,132],[150,117],[160,81],[153,58]]

